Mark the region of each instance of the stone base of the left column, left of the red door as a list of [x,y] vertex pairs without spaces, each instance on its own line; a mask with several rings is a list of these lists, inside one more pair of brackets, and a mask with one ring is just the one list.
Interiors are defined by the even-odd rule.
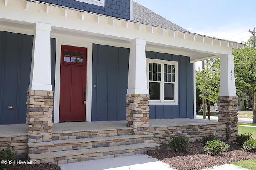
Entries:
[[28,91],[28,143],[52,141],[53,91]]

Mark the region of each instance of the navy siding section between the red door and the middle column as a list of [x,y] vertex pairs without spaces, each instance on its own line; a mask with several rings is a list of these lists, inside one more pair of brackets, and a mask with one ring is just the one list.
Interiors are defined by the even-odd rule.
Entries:
[[125,120],[129,49],[93,45],[92,121]]

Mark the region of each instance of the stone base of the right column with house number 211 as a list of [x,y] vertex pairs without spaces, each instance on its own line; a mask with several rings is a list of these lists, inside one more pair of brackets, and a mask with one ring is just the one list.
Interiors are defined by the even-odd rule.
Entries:
[[227,123],[227,141],[236,141],[238,135],[238,97],[219,97],[218,105],[218,121]]

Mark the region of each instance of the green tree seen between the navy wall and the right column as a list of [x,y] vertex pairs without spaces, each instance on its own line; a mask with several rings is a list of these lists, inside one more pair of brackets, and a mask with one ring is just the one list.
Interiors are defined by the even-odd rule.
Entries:
[[206,95],[200,94],[200,98],[208,101],[208,112],[210,104],[218,102],[220,89],[220,59],[210,59],[206,68],[196,71],[196,88]]

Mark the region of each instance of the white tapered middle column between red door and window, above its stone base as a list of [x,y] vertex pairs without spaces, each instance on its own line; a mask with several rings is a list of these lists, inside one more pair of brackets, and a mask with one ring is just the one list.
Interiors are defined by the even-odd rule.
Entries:
[[145,45],[144,39],[130,41],[127,94],[148,94]]

